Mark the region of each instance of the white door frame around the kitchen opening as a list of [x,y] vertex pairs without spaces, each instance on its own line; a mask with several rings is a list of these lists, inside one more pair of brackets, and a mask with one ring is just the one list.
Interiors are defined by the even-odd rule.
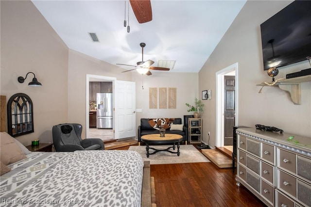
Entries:
[[[114,81],[117,80],[117,78],[86,74],[86,137],[89,137],[89,82],[90,81],[104,81],[104,80],[110,80],[114,84]],[[112,89],[112,93],[114,93],[114,89]],[[112,116],[112,118],[114,117]],[[113,125],[113,129],[114,129],[114,125]]]

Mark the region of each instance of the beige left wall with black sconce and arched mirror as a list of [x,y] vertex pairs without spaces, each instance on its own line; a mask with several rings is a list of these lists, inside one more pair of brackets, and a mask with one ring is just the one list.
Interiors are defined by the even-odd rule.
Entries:
[[[68,48],[31,1],[1,3],[1,95],[25,93],[34,105],[34,133],[17,137],[52,141],[52,126],[68,119]],[[42,87],[30,87],[34,72]]]

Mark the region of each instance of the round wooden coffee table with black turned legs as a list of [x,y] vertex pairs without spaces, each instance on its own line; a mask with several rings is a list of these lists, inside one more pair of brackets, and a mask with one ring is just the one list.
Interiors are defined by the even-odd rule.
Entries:
[[[179,156],[180,155],[179,142],[183,140],[183,137],[179,134],[165,134],[165,137],[160,137],[160,134],[147,134],[147,135],[141,136],[140,140],[146,143],[147,158],[149,158],[149,155],[153,155],[161,151],[170,152],[173,154],[177,154],[177,156]],[[173,148],[173,150],[175,150],[176,143],[177,143],[177,152],[173,152],[170,149]],[[173,144],[173,146],[170,146],[166,149],[155,149],[153,147],[149,147],[149,145],[152,145],[152,144]],[[153,149],[155,151],[152,153],[149,153],[149,149]]]

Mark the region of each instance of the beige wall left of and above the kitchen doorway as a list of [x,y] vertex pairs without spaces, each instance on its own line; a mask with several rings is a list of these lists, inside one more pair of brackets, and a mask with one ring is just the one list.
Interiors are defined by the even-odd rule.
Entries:
[[86,74],[132,81],[132,73],[121,73],[120,67],[69,49],[68,64],[68,122],[83,125],[86,137]]

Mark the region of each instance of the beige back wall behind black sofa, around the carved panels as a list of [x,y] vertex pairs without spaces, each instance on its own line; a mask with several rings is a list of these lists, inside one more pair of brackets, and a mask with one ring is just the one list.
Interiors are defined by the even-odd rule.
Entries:
[[[133,75],[136,82],[136,108],[142,112],[136,113],[136,124],[140,125],[140,118],[182,118],[188,112],[186,103],[194,104],[194,98],[198,97],[198,73],[165,73],[152,72],[151,76]],[[143,85],[143,89],[142,89]],[[149,88],[177,89],[176,109],[149,109]]]

